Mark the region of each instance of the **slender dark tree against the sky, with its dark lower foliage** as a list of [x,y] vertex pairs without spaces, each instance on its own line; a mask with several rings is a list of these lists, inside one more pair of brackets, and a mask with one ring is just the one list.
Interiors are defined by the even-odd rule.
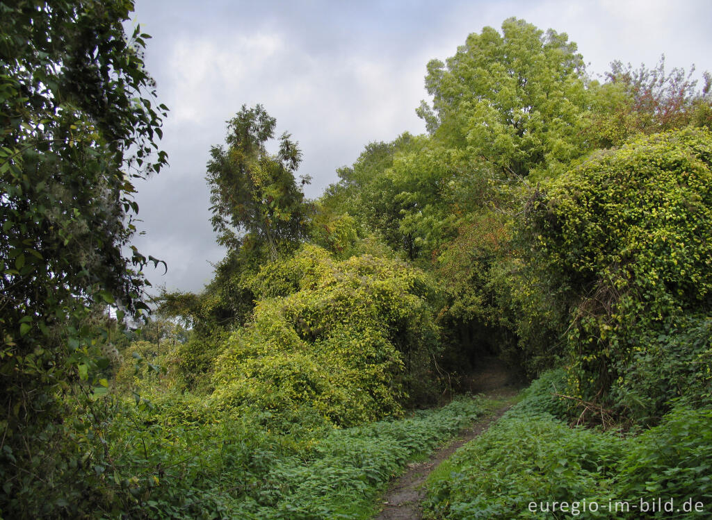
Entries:
[[282,134],[277,154],[267,152],[276,120],[261,105],[229,120],[226,147],[212,147],[206,180],[210,186],[211,223],[217,241],[229,248],[215,267],[213,280],[199,295],[163,292],[159,314],[182,319],[192,327],[189,348],[192,378],[210,368],[219,337],[244,324],[254,307],[249,278],[268,260],[276,260],[306,238],[312,208],[294,174],[302,154],[290,135]]

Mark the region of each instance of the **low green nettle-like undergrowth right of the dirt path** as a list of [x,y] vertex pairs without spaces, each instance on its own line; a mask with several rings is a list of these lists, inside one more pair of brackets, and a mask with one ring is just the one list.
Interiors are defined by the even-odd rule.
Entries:
[[[553,396],[563,384],[562,371],[545,374],[496,425],[436,469],[426,517],[709,517],[712,407],[676,403],[639,435],[570,428],[565,403]],[[673,511],[653,512],[657,499]]]

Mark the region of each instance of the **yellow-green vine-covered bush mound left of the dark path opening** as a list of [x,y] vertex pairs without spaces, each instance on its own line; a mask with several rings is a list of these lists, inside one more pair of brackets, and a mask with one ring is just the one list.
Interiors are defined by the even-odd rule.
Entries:
[[337,425],[400,415],[407,392],[434,379],[426,373],[437,348],[429,284],[401,262],[339,262],[310,245],[265,265],[251,322],[216,359],[216,406],[313,407]]

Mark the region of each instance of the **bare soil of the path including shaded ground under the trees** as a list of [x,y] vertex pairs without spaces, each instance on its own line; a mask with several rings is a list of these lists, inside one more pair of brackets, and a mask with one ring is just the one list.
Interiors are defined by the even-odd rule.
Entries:
[[459,437],[446,447],[437,450],[429,460],[408,465],[407,471],[394,480],[382,497],[383,509],[375,520],[419,520],[422,519],[421,502],[425,496],[423,484],[430,472],[440,465],[462,445],[473,440],[495,423],[511,407],[513,397],[520,385],[511,372],[496,359],[486,361],[480,369],[468,378],[468,388],[473,393],[483,393],[484,397],[505,402],[488,415],[477,420],[464,430]]

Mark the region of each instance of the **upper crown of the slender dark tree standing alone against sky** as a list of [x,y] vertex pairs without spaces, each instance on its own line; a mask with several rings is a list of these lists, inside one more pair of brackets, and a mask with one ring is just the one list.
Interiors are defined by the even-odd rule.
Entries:
[[301,189],[310,179],[302,176],[300,186],[294,179],[298,143],[284,133],[277,154],[266,150],[275,124],[261,105],[243,105],[228,122],[227,149],[211,149],[206,176],[218,242],[233,250],[266,245],[272,259],[280,245],[305,237],[310,214]]

